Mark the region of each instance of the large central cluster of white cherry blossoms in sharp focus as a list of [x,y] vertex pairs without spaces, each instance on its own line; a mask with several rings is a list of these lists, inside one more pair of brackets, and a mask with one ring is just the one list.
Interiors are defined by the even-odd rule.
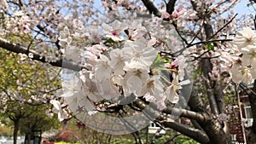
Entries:
[[[149,22],[150,26],[160,27],[161,19],[153,18]],[[173,61],[164,60],[159,48],[162,36],[157,32],[148,34],[154,29],[143,26],[140,19],[129,23],[119,20],[103,23],[98,32],[102,32],[102,39],[105,40],[83,49],[76,46],[78,37],[67,27],[61,31],[59,40],[66,47],[65,59],[83,66],[80,72],[63,70],[62,74],[61,96],[73,114],[84,111],[92,114],[100,101],[118,102],[120,96],[131,95],[144,97],[162,110],[166,101],[177,103],[178,90],[183,84],[189,84],[189,80],[184,79],[186,59],[181,55]],[[161,29],[161,32],[170,32],[163,26]],[[162,71],[169,73],[172,79]],[[59,116],[61,120],[63,117]]]

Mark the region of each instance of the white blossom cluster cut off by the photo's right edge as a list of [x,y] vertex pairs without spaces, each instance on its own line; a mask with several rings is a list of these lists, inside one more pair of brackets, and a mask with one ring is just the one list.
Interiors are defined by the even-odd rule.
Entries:
[[238,57],[234,60],[230,73],[236,83],[252,84],[256,78],[256,34],[249,27],[237,32],[234,44]]

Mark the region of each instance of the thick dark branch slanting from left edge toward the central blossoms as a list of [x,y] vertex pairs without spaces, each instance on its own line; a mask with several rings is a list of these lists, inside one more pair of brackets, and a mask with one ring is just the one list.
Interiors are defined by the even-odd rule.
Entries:
[[36,51],[33,50],[29,50],[27,51],[26,47],[20,46],[19,44],[15,44],[15,43],[11,43],[9,41],[7,41],[6,39],[3,39],[2,37],[0,37],[0,47],[3,49],[7,49],[11,52],[14,53],[21,53],[21,54],[26,54],[28,55],[28,53],[32,53],[33,57],[31,58],[32,60],[38,60],[44,63],[49,63],[52,66],[58,66],[58,67],[62,67],[62,68],[67,68],[73,71],[80,71],[82,66],[80,66],[79,64],[76,64],[72,61],[67,61],[67,60],[56,60],[55,62],[47,62],[45,60],[45,57],[41,57],[40,54]]

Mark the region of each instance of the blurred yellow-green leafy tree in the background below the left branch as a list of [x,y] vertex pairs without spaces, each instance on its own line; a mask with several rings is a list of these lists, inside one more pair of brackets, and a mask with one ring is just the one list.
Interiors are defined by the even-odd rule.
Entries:
[[[29,35],[21,38],[17,34],[9,37],[21,44],[29,43],[29,38]],[[19,130],[26,134],[33,129],[49,130],[59,126],[57,118],[47,113],[51,109],[50,99],[61,88],[60,69],[0,50],[0,116],[3,124],[14,125],[15,142]]]

